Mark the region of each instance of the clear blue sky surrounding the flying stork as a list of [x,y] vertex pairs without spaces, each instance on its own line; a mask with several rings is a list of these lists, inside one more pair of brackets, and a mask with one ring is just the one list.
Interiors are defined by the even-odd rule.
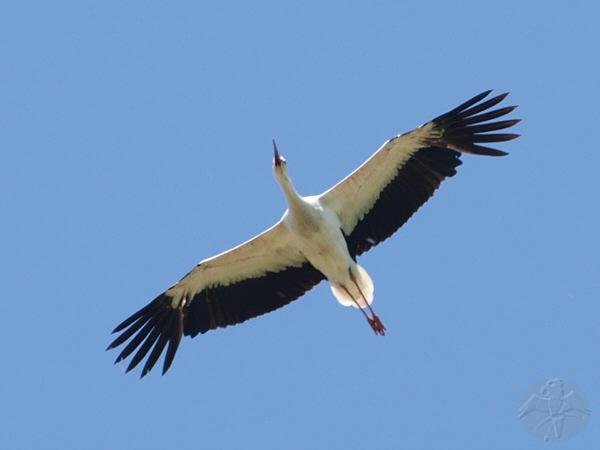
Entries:
[[[546,448],[562,377],[600,441],[600,2],[3,2],[1,448]],[[487,89],[523,136],[322,283],[124,375],[110,332],[385,140]]]

